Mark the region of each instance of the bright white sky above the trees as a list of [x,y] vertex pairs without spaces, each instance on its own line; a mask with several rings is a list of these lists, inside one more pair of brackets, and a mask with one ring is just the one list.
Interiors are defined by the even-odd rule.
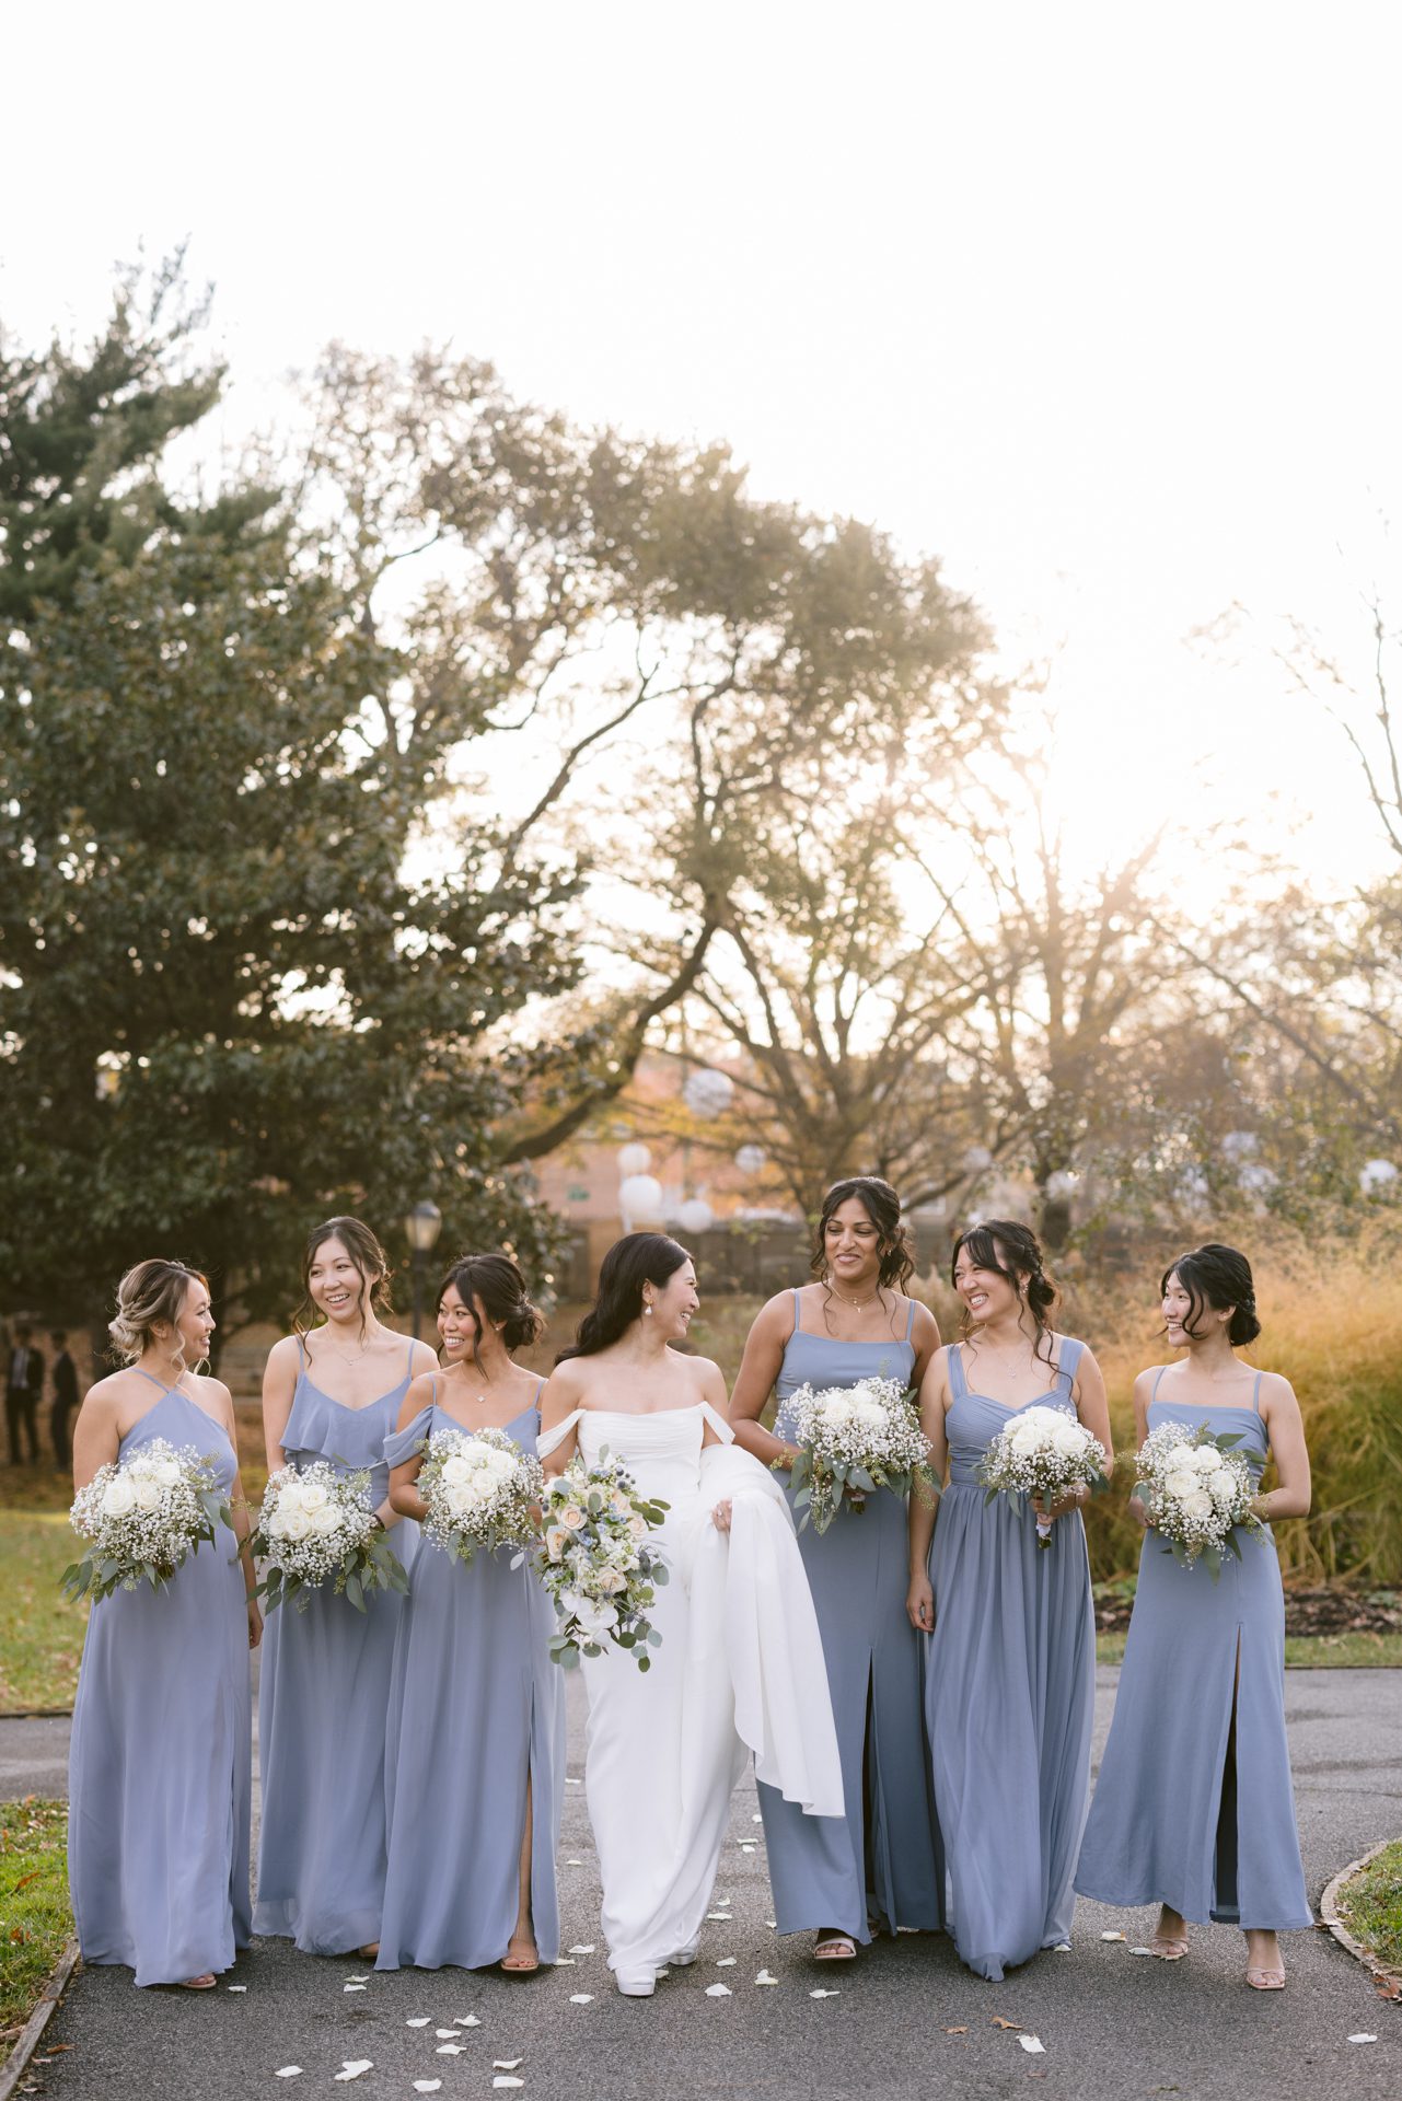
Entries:
[[231,435],[328,338],[427,336],[727,437],[1059,649],[1087,826],[1215,752],[1204,811],[1314,807],[1333,882],[1370,830],[1265,641],[1297,611],[1362,653],[1402,529],[1400,61],[1402,11],[1322,0],[29,8],[0,313],[86,330],[189,235]]

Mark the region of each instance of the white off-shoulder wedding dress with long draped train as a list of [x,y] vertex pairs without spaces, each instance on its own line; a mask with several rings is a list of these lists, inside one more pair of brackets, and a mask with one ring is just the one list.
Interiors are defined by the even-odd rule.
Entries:
[[[723,1441],[702,1452],[706,1422]],[[624,1649],[584,1662],[603,1935],[620,1988],[645,1992],[668,1960],[692,1958],[748,1752],[761,1780],[818,1817],[843,1815],[843,1775],[813,1601],[774,1475],[704,1401],[580,1408],[540,1437],[540,1456],[572,1429],[584,1464],[607,1450],[671,1504],[652,1668]],[[725,1498],[729,1534],[710,1521]]]

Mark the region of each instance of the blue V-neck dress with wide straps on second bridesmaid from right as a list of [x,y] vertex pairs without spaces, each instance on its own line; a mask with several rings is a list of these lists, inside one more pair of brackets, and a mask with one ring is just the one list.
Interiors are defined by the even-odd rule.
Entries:
[[[1085,1345],[1061,1338],[1049,1393],[1026,1406],[1076,1412]],[[929,1553],[935,1630],[925,1717],[948,1870],[948,1925],[980,1977],[1003,1977],[1070,1939],[1072,1874],[1091,1788],[1095,1614],[1078,1511],[1036,1544],[1036,1515],[984,1502],[977,1464],[1022,1410],[965,1380],[948,1353],[950,1481]]]

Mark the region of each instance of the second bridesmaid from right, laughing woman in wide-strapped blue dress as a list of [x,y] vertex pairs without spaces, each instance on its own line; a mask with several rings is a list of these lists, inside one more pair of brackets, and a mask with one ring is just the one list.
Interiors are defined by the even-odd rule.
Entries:
[[[910,1498],[910,1624],[925,1658],[950,1931],[980,1977],[1003,1977],[1070,1939],[1072,1874],[1091,1788],[1095,1614],[1080,1504],[984,1502],[975,1469],[1009,1416],[1034,1401],[1076,1414],[1110,1454],[1095,1357],[1047,1326],[1055,1286],[1026,1225],[990,1219],[954,1242],[965,1340],[921,1387],[931,1464],[950,1479],[935,1513]],[[1051,1544],[1036,1517],[1055,1519]],[[933,1530],[933,1551],[931,1551]],[[931,1632],[933,1630],[933,1632]]]

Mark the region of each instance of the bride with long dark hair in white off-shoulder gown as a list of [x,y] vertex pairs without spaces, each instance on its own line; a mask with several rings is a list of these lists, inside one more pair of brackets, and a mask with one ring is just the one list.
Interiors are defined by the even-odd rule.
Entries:
[[828,1677],[792,1519],[774,1477],[734,1443],[725,1380],[681,1343],[700,1298],[685,1248],[628,1233],[540,1397],[540,1458],[563,1473],[607,1452],[668,1504],[671,1582],[643,1674],[624,1649],[584,1662],[584,1788],[599,1847],[603,1935],[620,1992],[696,1960],[729,1794],[746,1754],[807,1815],[843,1813]]

